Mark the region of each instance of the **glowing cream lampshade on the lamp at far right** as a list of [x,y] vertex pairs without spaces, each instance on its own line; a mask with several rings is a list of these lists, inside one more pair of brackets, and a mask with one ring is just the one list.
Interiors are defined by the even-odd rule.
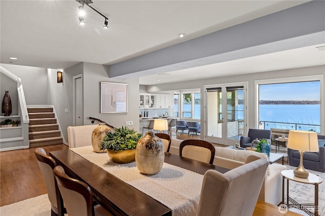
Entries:
[[298,151],[318,152],[317,134],[310,131],[290,130],[287,147]]

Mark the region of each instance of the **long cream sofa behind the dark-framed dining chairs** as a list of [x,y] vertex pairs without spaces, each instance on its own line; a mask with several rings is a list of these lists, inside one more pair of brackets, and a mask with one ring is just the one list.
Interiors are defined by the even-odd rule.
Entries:
[[[169,153],[179,155],[179,145],[183,140],[172,138]],[[248,151],[236,150],[225,147],[215,147],[215,157],[213,164],[229,169],[236,168],[245,164],[248,155],[258,155],[268,159],[266,154]],[[286,166],[279,163],[272,163],[268,167],[265,175],[262,189],[259,193],[259,200],[278,205],[282,201],[282,176],[281,171],[285,170]]]

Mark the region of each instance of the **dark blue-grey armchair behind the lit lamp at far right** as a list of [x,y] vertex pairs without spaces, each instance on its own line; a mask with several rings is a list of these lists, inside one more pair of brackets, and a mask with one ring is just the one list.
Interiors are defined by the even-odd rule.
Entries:
[[[303,164],[306,169],[325,172],[325,135],[317,135],[319,152],[305,152]],[[300,152],[288,148],[290,166],[299,166]]]

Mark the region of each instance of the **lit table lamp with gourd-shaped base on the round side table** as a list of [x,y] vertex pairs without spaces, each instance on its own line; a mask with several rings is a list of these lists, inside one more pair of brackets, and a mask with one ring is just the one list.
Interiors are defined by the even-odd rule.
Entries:
[[305,152],[318,152],[318,139],[315,132],[310,131],[289,131],[287,148],[298,150],[300,152],[300,164],[294,169],[295,177],[307,179],[308,171],[303,164]]

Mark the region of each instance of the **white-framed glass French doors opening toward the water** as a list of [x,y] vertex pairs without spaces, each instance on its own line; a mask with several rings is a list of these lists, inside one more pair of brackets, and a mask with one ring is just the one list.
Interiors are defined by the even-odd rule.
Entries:
[[212,143],[239,143],[246,127],[246,83],[205,87],[205,139]]

